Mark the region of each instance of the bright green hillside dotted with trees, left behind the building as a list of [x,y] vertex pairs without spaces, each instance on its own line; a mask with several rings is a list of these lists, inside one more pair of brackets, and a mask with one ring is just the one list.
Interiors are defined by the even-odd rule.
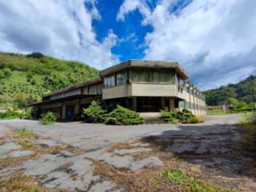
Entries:
[[43,94],[97,75],[98,70],[81,62],[0,52],[0,109],[17,100],[40,101]]

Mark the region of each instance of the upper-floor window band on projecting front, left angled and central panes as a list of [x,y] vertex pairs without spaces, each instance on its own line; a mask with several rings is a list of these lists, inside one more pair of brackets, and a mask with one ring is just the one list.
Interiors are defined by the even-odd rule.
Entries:
[[104,78],[105,87],[120,86],[127,82],[128,76],[132,82],[169,83],[174,84],[174,72],[163,70],[122,70]]

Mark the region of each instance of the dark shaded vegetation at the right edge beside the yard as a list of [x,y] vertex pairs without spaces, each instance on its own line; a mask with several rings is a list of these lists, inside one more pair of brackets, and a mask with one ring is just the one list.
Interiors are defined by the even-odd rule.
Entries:
[[256,156],[256,122],[254,122],[253,115],[245,115],[238,126],[242,131],[242,150]]

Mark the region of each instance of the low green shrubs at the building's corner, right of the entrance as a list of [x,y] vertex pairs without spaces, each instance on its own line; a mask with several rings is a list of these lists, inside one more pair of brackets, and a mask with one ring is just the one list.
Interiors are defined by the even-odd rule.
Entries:
[[165,119],[166,122],[170,122],[173,124],[177,124],[179,122],[182,123],[198,123],[204,122],[203,118],[197,117],[190,112],[190,110],[173,110],[173,111],[165,111],[162,110],[160,117]]

